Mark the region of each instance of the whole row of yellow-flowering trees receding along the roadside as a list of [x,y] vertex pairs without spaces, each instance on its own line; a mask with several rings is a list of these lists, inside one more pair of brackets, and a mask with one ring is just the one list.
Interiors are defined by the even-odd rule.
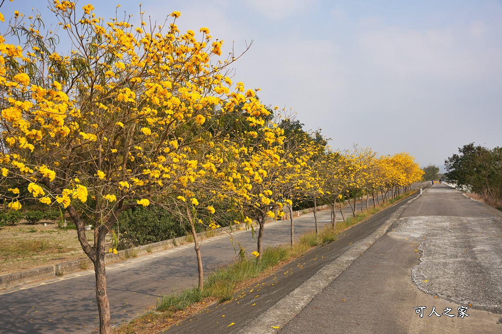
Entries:
[[[66,210],[94,264],[100,333],[111,332],[105,237],[126,210],[156,205],[180,217],[194,237],[202,288],[196,230],[219,227],[218,208],[259,225],[260,258],[266,219],[282,217],[285,206],[292,213],[294,201],[328,198],[334,214],[346,191],[394,194],[420,174],[407,154],[330,152],[319,132],[232,85],[228,69],[239,55],[221,59],[222,41],[207,28],[180,33],[178,12],[164,26],[141,13],[134,27],[130,17],[104,22],[91,5],[56,0],[49,8],[71,50],[43,35],[38,15],[11,20],[8,35],[21,46],[0,37],[2,210],[27,199]],[[291,225],[293,242],[292,214]]]

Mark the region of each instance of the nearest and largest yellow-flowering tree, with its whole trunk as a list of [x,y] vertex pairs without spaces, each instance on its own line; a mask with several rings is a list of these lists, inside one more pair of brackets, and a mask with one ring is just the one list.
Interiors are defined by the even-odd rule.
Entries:
[[[42,35],[38,16],[10,26],[26,37],[23,46],[0,37],[0,184],[16,183],[27,198],[66,209],[94,264],[100,333],[108,334],[105,236],[118,215],[182,196],[180,186],[202,178],[197,168],[210,158],[194,156],[201,143],[228,132],[218,127],[222,115],[259,124],[268,111],[254,92],[241,94],[241,83],[230,92],[225,68],[238,57],[212,63],[222,41],[207,28],[199,38],[180,33],[179,12],[165,27],[149,26],[141,13],[133,27],[117,17],[104,22],[91,5],[56,0],[49,8],[72,41],[67,53],[51,33]],[[243,103],[244,111],[235,108]],[[20,209],[18,194],[10,194],[5,209]],[[88,224],[93,240],[84,233]]]

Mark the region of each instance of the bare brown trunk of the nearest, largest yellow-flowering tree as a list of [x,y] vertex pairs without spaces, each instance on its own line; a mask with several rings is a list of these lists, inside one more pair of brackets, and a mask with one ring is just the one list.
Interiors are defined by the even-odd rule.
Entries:
[[[91,259],[94,264],[94,273],[96,275],[96,301],[99,312],[99,334],[111,334],[110,303],[108,293],[106,292],[106,269],[104,267],[105,243],[104,239],[108,232],[108,227],[100,225],[98,228],[98,237],[96,257]],[[97,246],[97,247],[96,247]]]

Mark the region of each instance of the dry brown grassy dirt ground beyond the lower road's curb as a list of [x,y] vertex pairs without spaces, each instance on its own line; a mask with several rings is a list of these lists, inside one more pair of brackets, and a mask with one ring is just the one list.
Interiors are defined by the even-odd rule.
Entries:
[[[86,232],[92,244],[93,231]],[[86,258],[74,229],[51,221],[0,227],[0,275]]]

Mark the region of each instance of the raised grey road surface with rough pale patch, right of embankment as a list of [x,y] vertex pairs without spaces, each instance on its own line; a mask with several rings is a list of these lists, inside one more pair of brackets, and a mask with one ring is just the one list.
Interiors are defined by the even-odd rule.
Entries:
[[501,333],[501,218],[445,185],[427,188],[281,333]]

